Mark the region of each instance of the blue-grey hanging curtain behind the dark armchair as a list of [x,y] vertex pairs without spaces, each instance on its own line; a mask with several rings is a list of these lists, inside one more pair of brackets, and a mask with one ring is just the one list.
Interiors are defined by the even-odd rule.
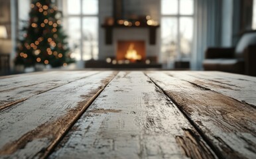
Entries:
[[195,0],[194,21],[191,69],[202,70],[206,48],[221,44],[222,1]]

